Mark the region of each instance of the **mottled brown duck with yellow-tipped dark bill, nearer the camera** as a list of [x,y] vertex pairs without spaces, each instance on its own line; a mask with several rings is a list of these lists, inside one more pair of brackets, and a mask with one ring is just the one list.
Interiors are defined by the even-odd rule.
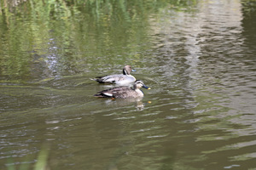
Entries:
[[145,84],[137,80],[134,82],[133,88],[128,86],[120,86],[116,88],[109,88],[98,92],[94,96],[101,98],[120,98],[120,99],[131,99],[131,98],[143,98],[144,94],[140,88],[150,89]]

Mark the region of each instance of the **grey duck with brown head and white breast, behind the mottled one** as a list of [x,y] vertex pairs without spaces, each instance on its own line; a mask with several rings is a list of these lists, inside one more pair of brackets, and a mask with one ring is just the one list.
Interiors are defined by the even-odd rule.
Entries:
[[136,78],[131,76],[131,71],[136,71],[136,70],[132,70],[131,65],[125,65],[123,69],[123,74],[109,75],[105,77],[96,77],[94,80],[100,83],[113,83],[118,85],[127,85],[129,83],[136,81]]

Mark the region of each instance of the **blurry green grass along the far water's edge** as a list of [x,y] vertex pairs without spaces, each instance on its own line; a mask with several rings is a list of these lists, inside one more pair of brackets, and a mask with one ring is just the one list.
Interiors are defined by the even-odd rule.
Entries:
[[[29,0],[27,2],[12,0],[9,3],[0,3],[0,9],[4,14],[13,13],[21,18],[32,17],[33,19],[50,20],[65,19],[81,13],[86,13],[95,20],[132,20],[137,15],[156,12],[160,8],[187,8],[193,6],[196,0],[147,0],[147,1],[127,1],[127,0],[89,0],[89,1],[56,1]],[[15,7],[17,6],[17,7]],[[0,13],[3,14],[3,13]]]

